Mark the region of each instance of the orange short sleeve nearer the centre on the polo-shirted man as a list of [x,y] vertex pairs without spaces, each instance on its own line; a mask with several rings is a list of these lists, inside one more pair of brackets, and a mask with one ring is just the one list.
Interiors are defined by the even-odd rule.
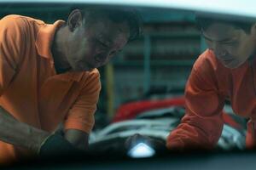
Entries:
[[101,91],[100,74],[94,71],[84,83],[84,88],[79,94],[67,115],[64,123],[65,129],[78,129],[90,133],[94,126],[94,113]]

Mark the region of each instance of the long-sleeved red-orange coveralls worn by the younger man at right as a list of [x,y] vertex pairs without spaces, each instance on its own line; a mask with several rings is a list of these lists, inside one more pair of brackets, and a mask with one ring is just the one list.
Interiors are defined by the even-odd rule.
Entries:
[[195,61],[185,89],[186,114],[167,138],[169,149],[191,146],[212,148],[218,143],[224,122],[224,100],[230,100],[233,111],[250,118],[247,124],[247,147],[255,144],[253,122],[256,122],[256,59],[236,69],[224,67],[207,49]]

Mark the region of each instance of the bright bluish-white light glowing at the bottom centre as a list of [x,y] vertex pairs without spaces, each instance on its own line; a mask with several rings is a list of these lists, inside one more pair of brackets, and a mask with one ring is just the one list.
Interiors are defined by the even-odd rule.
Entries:
[[133,158],[150,157],[150,156],[154,156],[154,154],[155,154],[154,149],[148,146],[148,144],[144,144],[144,143],[139,143],[135,145],[128,152],[128,156],[131,156]]

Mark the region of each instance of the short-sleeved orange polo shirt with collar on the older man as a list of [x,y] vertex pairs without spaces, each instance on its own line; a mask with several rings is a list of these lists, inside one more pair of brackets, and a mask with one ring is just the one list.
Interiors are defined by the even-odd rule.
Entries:
[[[100,75],[96,69],[55,73],[50,48],[56,29],[64,24],[14,14],[0,20],[0,105],[20,122],[48,132],[63,122],[65,129],[90,133]],[[26,152],[0,141],[0,162]]]

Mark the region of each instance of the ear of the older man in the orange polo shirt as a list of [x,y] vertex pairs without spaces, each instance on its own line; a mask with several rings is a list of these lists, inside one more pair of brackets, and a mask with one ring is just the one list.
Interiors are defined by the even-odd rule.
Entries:
[[70,31],[74,31],[77,27],[82,25],[83,14],[79,9],[74,9],[68,16],[67,26]]

